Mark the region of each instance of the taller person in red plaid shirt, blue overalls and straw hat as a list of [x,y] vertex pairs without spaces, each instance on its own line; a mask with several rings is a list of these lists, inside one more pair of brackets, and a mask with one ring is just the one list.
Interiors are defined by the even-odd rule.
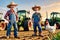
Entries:
[[7,26],[7,33],[6,33],[7,38],[10,37],[10,31],[11,31],[12,25],[14,26],[14,37],[18,38],[17,37],[17,24],[16,24],[16,21],[18,20],[18,15],[14,11],[14,8],[16,6],[17,4],[15,4],[14,2],[11,2],[9,5],[7,5],[7,7],[10,8],[10,10],[8,10],[6,15],[4,16],[4,18],[9,22]]

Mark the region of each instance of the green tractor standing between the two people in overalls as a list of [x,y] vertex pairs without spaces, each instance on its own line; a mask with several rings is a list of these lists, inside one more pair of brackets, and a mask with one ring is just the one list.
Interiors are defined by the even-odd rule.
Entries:
[[18,17],[19,17],[19,20],[17,22],[18,31],[19,31],[20,27],[23,27],[24,31],[29,31],[29,28],[28,28],[28,21],[30,19],[28,17],[29,12],[27,12],[26,10],[19,10],[19,11],[17,11],[17,13],[18,13]]

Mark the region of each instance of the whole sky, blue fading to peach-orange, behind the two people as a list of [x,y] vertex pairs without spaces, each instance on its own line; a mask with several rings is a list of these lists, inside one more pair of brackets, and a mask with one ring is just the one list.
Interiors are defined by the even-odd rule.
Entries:
[[50,16],[50,13],[53,11],[60,12],[60,0],[0,0],[0,9],[9,10],[6,6],[12,1],[18,4],[16,7],[18,10],[30,10],[31,15],[33,14],[33,10],[31,8],[34,5],[41,6],[40,13],[43,19],[46,18],[46,11],[48,13],[48,16]]

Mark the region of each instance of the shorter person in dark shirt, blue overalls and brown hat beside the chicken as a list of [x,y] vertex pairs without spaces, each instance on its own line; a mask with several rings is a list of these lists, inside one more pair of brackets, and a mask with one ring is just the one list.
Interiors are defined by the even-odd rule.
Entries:
[[41,35],[42,28],[41,28],[41,25],[40,25],[41,14],[38,12],[40,9],[41,9],[40,6],[34,6],[34,7],[32,7],[32,10],[35,11],[35,13],[33,13],[33,15],[32,15],[33,29],[34,29],[33,36],[37,36],[37,29],[36,28],[38,26],[39,36],[43,37]]

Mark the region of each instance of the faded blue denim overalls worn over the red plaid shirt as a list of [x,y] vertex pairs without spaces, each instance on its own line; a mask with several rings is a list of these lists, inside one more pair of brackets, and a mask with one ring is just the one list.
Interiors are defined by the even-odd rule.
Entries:
[[11,28],[12,28],[12,25],[14,27],[14,36],[16,37],[17,36],[17,24],[16,24],[16,15],[13,14],[12,12],[10,12],[9,14],[9,23],[8,23],[8,26],[7,26],[7,36],[10,36],[10,31],[11,31]]

